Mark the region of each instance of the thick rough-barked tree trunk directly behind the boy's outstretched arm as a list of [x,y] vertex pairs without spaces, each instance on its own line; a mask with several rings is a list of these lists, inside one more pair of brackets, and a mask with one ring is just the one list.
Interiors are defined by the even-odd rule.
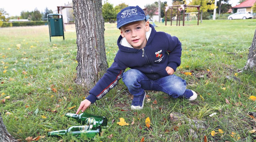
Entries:
[[92,88],[108,68],[101,0],[73,0],[78,65],[75,82]]

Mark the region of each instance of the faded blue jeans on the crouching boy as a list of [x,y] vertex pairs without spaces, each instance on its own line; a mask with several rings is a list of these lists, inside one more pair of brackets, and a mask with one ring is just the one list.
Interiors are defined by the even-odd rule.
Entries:
[[161,91],[173,98],[178,98],[186,90],[186,81],[174,74],[158,80],[150,80],[139,70],[130,69],[123,74],[122,81],[134,96],[142,95],[145,90],[152,90]]

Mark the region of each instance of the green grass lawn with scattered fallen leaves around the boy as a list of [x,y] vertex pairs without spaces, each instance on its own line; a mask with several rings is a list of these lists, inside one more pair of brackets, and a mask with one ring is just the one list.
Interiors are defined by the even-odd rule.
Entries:
[[[197,92],[198,98],[189,102],[167,97],[162,92],[148,91],[150,100],[145,103],[145,108],[131,111],[131,95],[119,81],[103,99],[86,110],[108,118],[108,126],[94,141],[139,142],[144,137],[147,142],[201,142],[204,136],[209,141],[256,141],[256,133],[249,133],[255,129],[256,121],[248,116],[250,112],[256,112],[255,101],[248,99],[256,94],[256,73],[238,73],[247,61],[256,19],[204,20],[199,26],[196,23],[185,21],[185,26],[156,23],[156,30],[180,39],[182,63],[175,74],[187,81],[188,88]],[[0,112],[8,132],[15,139],[25,141],[27,137],[78,125],[63,114],[75,113],[88,90],[74,83],[77,66],[75,26],[68,25],[66,29],[65,40],[52,37],[50,42],[48,26],[0,28],[0,100],[10,96],[0,103]],[[105,24],[109,66],[118,50],[116,41],[119,34],[116,24]],[[186,76],[184,72],[192,75]],[[240,81],[228,80],[227,75],[236,75]],[[226,104],[226,99],[230,104]],[[157,104],[152,104],[154,100]],[[75,105],[74,109],[68,109]],[[170,120],[171,113],[201,120],[206,128],[196,129],[188,121],[179,125]],[[217,115],[209,117],[212,113]],[[116,122],[120,117],[125,118],[129,126],[119,126]],[[145,127],[147,117],[151,121],[150,128]],[[113,119],[115,122],[111,124]],[[175,126],[179,129],[174,129]],[[218,129],[224,133],[212,136],[211,131],[218,132]],[[191,134],[192,130],[196,136]],[[232,132],[240,139],[232,137]],[[109,139],[111,134],[113,137]],[[89,141],[70,136],[61,139]],[[61,139],[45,137],[40,141],[56,142]]]

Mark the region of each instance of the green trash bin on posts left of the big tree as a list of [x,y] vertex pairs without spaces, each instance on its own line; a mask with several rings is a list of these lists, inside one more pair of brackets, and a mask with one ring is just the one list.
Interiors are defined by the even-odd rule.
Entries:
[[[61,18],[53,18],[53,17],[60,17]],[[52,36],[63,36],[64,37],[64,30],[63,30],[63,19],[61,14],[47,14],[48,25],[49,25],[49,34],[50,34],[50,42]]]

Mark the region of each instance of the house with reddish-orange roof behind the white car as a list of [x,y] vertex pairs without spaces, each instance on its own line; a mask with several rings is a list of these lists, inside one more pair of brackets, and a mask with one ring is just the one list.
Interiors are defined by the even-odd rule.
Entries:
[[247,11],[250,13],[253,13],[253,4],[256,2],[256,0],[246,0],[234,7],[232,7],[233,12],[242,12],[242,11]]

